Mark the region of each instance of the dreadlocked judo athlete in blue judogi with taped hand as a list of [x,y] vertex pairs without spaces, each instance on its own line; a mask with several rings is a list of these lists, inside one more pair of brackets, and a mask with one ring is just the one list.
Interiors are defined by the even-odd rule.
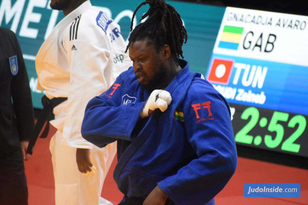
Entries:
[[129,37],[133,67],[89,101],[82,136],[117,141],[119,204],[214,204],[237,165],[229,105],[179,59],[187,34],[176,10],[145,3],[149,18]]

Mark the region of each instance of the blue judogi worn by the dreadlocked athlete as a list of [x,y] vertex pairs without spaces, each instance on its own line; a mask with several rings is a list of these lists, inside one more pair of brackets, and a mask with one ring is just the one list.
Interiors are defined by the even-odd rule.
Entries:
[[166,204],[214,204],[233,175],[237,153],[225,98],[187,61],[165,89],[172,102],[165,112],[139,115],[150,93],[141,89],[133,68],[87,104],[81,132],[103,147],[118,141],[114,179],[128,198],[146,198],[158,185]]

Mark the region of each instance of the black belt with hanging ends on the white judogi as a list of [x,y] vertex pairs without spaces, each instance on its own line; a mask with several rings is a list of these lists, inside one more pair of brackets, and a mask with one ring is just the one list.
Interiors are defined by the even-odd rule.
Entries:
[[64,102],[67,100],[67,97],[55,97],[52,98],[51,100],[44,95],[42,97],[42,105],[43,105],[43,110],[39,114],[38,120],[35,124],[35,127],[33,129],[33,132],[30,136],[30,141],[27,149],[27,153],[32,155],[34,144],[39,136],[39,133],[41,132],[45,122],[47,122],[43,133],[39,138],[46,138],[49,132],[49,118],[52,113],[52,110],[54,109],[55,106],[58,104]]

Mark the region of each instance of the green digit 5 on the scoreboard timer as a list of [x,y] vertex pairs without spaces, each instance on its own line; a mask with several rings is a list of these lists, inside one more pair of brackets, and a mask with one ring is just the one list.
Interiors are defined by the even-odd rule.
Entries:
[[286,122],[289,118],[289,113],[285,112],[274,112],[268,130],[270,132],[276,132],[276,136],[273,139],[271,135],[265,135],[264,143],[268,148],[276,148],[282,141],[284,129],[281,124],[278,124],[278,121]]

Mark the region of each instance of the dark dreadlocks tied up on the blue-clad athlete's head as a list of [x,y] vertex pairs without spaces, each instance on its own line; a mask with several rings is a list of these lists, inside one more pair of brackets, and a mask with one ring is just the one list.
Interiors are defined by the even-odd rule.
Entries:
[[[149,4],[149,10],[141,17],[139,22],[149,17],[145,22],[140,23],[135,29],[133,28],[133,20],[137,10]],[[131,21],[131,31],[128,38],[128,45],[125,52],[132,42],[146,39],[148,44],[153,44],[158,52],[165,44],[170,46],[171,55],[179,59],[183,57],[182,45],[185,39],[187,41],[187,32],[183,26],[180,14],[175,8],[167,4],[164,0],[145,0],[134,11]]]

